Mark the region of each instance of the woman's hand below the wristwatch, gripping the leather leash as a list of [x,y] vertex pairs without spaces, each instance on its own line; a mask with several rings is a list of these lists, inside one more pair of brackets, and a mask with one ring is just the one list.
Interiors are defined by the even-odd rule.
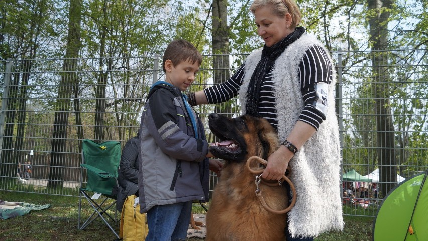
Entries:
[[262,173],[262,178],[268,180],[280,180],[285,174],[288,162],[293,157],[293,153],[287,147],[281,145],[278,150],[268,157],[268,164]]

